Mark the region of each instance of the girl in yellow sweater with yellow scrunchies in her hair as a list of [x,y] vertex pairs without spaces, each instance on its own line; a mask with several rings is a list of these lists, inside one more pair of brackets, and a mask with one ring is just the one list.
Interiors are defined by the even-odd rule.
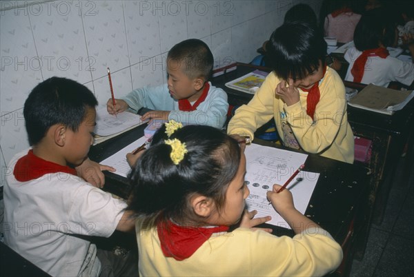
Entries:
[[270,217],[245,210],[244,144],[209,126],[168,129],[128,176],[140,276],[322,276],[338,267],[340,245],[295,209],[288,189],[274,185],[267,196],[296,236],[253,228]]

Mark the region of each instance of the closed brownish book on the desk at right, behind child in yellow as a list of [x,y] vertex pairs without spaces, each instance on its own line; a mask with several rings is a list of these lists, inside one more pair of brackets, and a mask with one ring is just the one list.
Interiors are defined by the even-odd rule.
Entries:
[[348,105],[371,112],[391,115],[397,110],[402,110],[413,97],[413,90],[393,90],[371,83],[348,101]]

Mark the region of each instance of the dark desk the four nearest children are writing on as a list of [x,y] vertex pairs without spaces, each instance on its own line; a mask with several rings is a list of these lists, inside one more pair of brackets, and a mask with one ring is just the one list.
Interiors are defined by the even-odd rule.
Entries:
[[[145,125],[136,127],[118,137],[91,147],[89,156],[93,161],[102,161],[121,148],[144,135]],[[255,139],[255,143],[270,147],[282,147],[275,143]],[[286,149],[286,148],[284,148]],[[306,209],[306,216],[315,220],[330,232],[344,249],[344,262],[335,275],[348,273],[353,258],[356,235],[359,234],[364,222],[364,209],[360,204],[366,198],[369,176],[365,167],[351,165],[330,158],[311,154],[306,160],[304,170],[318,172],[319,179]],[[113,194],[127,198],[130,184],[124,177],[106,172],[105,189]],[[293,232],[282,227],[273,228],[274,234],[293,236]]]

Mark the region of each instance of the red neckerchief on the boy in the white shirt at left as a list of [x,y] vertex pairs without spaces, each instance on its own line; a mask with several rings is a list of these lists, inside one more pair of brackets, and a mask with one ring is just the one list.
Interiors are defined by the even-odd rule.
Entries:
[[73,168],[43,160],[43,158],[35,156],[32,149],[29,150],[26,156],[19,158],[13,170],[14,177],[19,182],[34,180],[45,174],[56,172],[77,176],[76,170]]

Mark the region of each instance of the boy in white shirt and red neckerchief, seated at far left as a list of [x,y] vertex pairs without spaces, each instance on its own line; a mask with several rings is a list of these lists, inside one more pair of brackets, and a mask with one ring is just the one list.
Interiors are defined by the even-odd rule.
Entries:
[[96,105],[84,85],[57,77],[39,83],[24,104],[32,148],[10,161],[4,240],[52,276],[137,275],[132,252],[115,256],[88,240],[135,226],[124,201],[87,183],[73,168],[92,145]]

